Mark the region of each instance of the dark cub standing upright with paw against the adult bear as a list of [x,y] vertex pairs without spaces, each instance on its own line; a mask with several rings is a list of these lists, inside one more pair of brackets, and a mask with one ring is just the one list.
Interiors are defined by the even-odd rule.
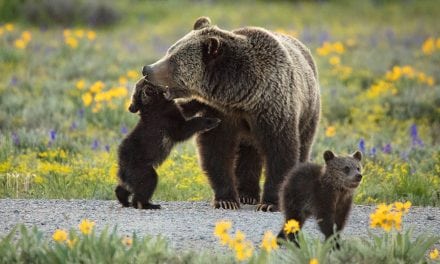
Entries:
[[155,168],[167,158],[175,143],[215,128],[220,119],[185,119],[167,90],[145,79],[136,84],[129,111],[139,111],[140,120],[118,149],[116,197],[124,207],[130,206],[129,197],[133,194],[133,207],[160,209],[160,205],[150,203],[158,181]]

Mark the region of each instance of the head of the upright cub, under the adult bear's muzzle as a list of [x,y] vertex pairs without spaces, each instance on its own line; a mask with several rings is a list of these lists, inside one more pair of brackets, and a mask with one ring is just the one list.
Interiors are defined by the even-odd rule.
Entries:
[[136,83],[128,110],[132,113],[142,112],[147,107],[160,106],[171,100],[171,95],[167,89],[153,85],[142,78]]

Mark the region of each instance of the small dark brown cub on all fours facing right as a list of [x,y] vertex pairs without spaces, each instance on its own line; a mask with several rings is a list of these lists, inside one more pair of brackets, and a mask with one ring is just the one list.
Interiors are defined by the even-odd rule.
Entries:
[[[286,223],[294,219],[302,228],[307,218],[315,216],[328,239],[334,230],[339,232],[345,226],[354,190],[362,179],[362,153],[338,157],[327,150],[324,160],[325,166],[303,163],[290,171],[281,187],[280,201]],[[286,237],[297,243],[295,234],[286,236],[281,229],[278,238]]]

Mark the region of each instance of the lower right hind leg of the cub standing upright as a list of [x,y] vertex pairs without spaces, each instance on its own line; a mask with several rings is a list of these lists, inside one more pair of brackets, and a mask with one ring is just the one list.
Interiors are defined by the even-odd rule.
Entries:
[[136,183],[133,183],[133,207],[137,209],[160,209],[160,205],[150,203],[157,186],[156,170],[150,166],[148,170],[136,170]]

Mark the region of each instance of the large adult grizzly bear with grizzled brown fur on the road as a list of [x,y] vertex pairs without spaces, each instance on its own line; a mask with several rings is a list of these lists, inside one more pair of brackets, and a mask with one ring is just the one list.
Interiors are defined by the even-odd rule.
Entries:
[[319,122],[318,75],[310,51],[287,35],[256,27],[226,31],[201,17],[142,72],[174,94],[211,106],[208,116],[222,120],[197,137],[214,206],[235,209],[239,201],[260,201],[258,210],[277,210],[284,175],[309,159]]

